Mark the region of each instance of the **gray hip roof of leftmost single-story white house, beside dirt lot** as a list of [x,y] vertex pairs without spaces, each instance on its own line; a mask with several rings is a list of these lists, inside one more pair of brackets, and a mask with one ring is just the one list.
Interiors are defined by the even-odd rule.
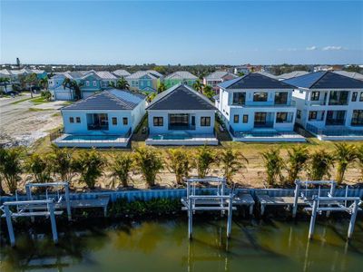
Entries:
[[62,110],[132,110],[144,99],[141,93],[111,89],[74,102]]

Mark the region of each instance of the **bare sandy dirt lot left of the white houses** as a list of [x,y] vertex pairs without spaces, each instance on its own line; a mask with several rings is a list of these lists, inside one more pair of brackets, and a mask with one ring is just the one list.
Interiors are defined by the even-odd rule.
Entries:
[[59,127],[58,109],[64,102],[34,103],[26,93],[15,98],[0,98],[0,145],[30,146]]

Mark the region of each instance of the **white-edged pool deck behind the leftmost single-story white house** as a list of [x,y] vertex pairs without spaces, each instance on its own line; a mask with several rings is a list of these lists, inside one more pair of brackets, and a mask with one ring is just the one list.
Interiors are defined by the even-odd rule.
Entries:
[[[125,148],[128,146],[129,141],[131,139],[131,135],[129,137],[123,137],[120,135],[119,138],[115,140],[65,140],[68,136],[77,135],[73,134],[63,134],[61,137],[55,139],[53,143],[58,147],[76,147],[76,148]],[[94,135],[89,135],[90,137]]]

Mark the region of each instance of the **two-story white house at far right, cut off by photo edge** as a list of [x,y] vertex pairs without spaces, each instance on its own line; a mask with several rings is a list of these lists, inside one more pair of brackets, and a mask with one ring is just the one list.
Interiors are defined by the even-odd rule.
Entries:
[[333,72],[284,81],[296,86],[296,121],[319,140],[363,140],[363,82]]

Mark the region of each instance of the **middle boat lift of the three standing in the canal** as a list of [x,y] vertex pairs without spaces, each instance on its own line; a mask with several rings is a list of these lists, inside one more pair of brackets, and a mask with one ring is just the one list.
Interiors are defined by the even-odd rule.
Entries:
[[[221,210],[221,214],[228,212],[227,238],[231,237],[231,221],[233,207],[233,194],[226,193],[226,180],[224,178],[187,179],[187,197],[182,198],[182,210],[188,211],[188,237],[192,238],[192,217],[197,210]],[[214,183],[217,190],[212,194],[198,194],[197,185]]]

